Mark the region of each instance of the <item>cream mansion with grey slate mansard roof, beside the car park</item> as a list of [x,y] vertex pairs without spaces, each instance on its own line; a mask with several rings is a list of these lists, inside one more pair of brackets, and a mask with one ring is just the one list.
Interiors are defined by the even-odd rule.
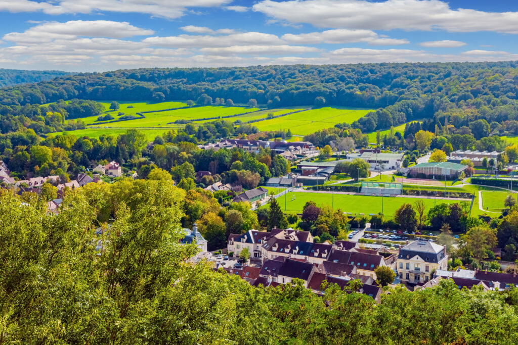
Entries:
[[438,244],[414,241],[399,249],[396,267],[401,281],[426,283],[432,272],[448,269],[448,254]]

